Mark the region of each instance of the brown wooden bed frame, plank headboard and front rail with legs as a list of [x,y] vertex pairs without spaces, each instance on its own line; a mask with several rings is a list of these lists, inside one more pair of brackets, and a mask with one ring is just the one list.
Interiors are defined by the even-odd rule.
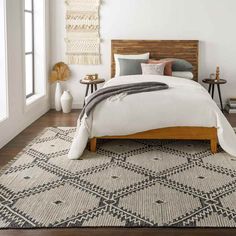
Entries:
[[[194,80],[198,81],[197,40],[112,40],[111,75],[115,75],[114,54],[142,54],[150,52],[150,58],[181,58],[193,65]],[[126,136],[106,136],[90,140],[90,151],[96,152],[97,139],[176,139],[209,140],[211,151],[217,153],[217,129],[212,127],[171,127],[150,130]]]

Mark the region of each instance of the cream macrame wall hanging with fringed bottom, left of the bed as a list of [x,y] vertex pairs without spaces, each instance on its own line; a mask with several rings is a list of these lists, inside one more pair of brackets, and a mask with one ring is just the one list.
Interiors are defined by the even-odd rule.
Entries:
[[100,0],[66,0],[68,64],[98,65],[100,54]]

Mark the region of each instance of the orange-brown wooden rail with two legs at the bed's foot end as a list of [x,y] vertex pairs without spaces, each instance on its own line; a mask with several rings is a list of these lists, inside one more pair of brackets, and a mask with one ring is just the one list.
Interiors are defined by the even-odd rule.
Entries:
[[176,139],[176,140],[209,140],[211,152],[217,153],[217,129],[206,127],[172,127],[145,131],[125,136],[105,136],[90,140],[90,151],[96,152],[97,139]]

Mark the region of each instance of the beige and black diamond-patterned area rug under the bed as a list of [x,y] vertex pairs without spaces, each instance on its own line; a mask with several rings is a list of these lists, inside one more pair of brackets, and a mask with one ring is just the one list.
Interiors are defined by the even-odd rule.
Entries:
[[67,159],[47,128],[1,171],[0,228],[235,227],[236,158],[208,142],[103,141]]

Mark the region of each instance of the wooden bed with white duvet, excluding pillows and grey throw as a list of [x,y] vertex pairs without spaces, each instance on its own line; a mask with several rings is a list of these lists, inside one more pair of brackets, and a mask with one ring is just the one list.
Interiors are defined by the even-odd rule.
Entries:
[[[186,81],[184,79],[174,80],[173,78],[163,77],[157,78],[152,76],[148,77],[148,80],[150,81],[155,81],[157,79],[159,82],[168,83],[168,85],[172,88],[179,88],[176,90],[179,93],[176,94],[176,97],[181,98],[181,94],[185,94],[183,99],[185,101],[190,100],[186,103],[187,105],[185,112],[189,115],[189,117],[187,117],[187,115],[183,112],[181,113],[176,111],[176,113],[171,114],[171,111],[165,111],[166,114],[169,115],[164,119],[158,118],[159,122],[162,124],[155,125],[155,122],[153,123],[155,117],[152,118],[152,120],[149,120],[149,116],[145,115],[146,112],[148,114],[150,110],[153,110],[153,106],[150,106],[150,103],[153,103],[155,100],[163,100],[162,95],[167,99],[160,102],[160,104],[158,103],[157,108],[155,106],[156,110],[154,109],[155,111],[153,110],[153,113],[156,112],[156,114],[158,114],[158,111],[160,111],[162,107],[171,104],[172,100],[170,99],[170,95],[168,95],[171,91],[142,95],[141,100],[150,100],[150,102],[146,102],[146,104],[144,103],[146,110],[144,109],[143,112],[139,112],[139,107],[137,107],[135,110],[132,110],[132,108],[139,103],[139,96],[129,96],[129,98],[126,98],[126,101],[124,101],[124,103],[126,103],[125,106],[127,106],[126,109],[123,109],[123,106],[119,104],[110,104],[108,102],[104,102],[96,107],[91,119],[87,120],[87,123],[82,125],[83,128],[81,128],[81,124],[78,125],[76,137],[74,138],[71,150],[69,152],[70,159],[78,159],[78,157],[82,155],[82,150],[87,144],[87,139],[90,140],[90,150],[92,152],[96,152],[98,139],[208,140],[211,147],[211,152],[213,154],[217,153],[217,144],[219,140],[221,146],[226,151],[228,151],[231,155],[236,155],[236,149],[234,148],[236,138],[232,127],[229,125],[214,101],[212,101],[207,91],[197,83],[199,51],[198,41],[113,40],[111,51],[112,77],[115,74],[114,54],[142,54],[145,52],[150,52],[151,58],[155,59],[181,58],[189,61],[193,65],[194,81]],[[142,79],[142,76],[134,76],[134,78],[115,78],[111,79],[105,86],[127,83],[127,81],[132,83],[134,81],[142,81]],[[200,95],[195,96],[195,93]],[[125,116],[119,117],[120,115],[118,111],[122,109],[123,114],[127,114],[127,122],[124,122],[126,119]],[[174,110],[175,107],[172,109]],[[178,109],[184,110],[185,108],[183,104],[179,104]],[[173,115],[176,116],[176,120],[173,119]],[[135,119],[135,116],[141,117],[142,120],[145,120],[148,125],[143,125],[145,122],[141,122],[142,125],[140,123],[140,126],[138,122],[133,124],[135,122],[132,122],[132,119],[130,118],[131,116],[134,116],[132,119]],[[199,122],[199,120],[201,121]],[[124,122],[124,126],[120,125],[122,122]],[[90,127],[89,132],[87,131],[87,127]]]

